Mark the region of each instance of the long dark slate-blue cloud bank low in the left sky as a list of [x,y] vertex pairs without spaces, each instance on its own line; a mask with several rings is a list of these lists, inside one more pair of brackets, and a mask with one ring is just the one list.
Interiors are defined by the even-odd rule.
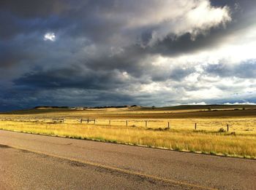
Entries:
[[30,89],[94,89],[113,90],[129,80],[124,80],[118,71],[93,71],[84,68],[59,68],[50,71],[36,71],[14,81],[16,85]]

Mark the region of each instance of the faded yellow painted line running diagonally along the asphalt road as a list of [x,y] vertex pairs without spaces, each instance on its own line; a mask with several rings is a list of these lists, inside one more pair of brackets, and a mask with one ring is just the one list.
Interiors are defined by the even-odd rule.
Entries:
[[[1,145],[4,145],[4,144],[1,144]],[[4,146],[9,146],[9,145],[4,145]],[[24,148],[19,147],[19,146],[9,146],[9,147],[11,147],[12,149],[18,149],[18,150],[22,150],[22,151],[30,151],[34,154],[42,154],[42,155],[45,155],[45,156],[48,156],[48,157],[54,157],[54,158],[57,158],[57,159],[66,159],[66,160],[69,160],[71,162],[79,162],[79,163],[82,163],[84,165],[91,165],[93,167],[101,167],[101,168],[107,169],[107,170],[114,170],[114,171],[118,171],[118,172],[121,172],[121,173],[127,173],[129,175],[138,175],[140,177],[151,178],[151,179],[154,179],[156,181],[162,181],[162,182],[165,182],[165,183],[176,183],[178,185],[190,186],[190,187],[195,187],[195,188],[199,188],[199,189],[217,190],[217,189],[214,189],[214,188],[211,188],[211,187],[200,186],[200,185],[187,183],[187,182],[183,182],[183,181],[171,180],[171,179],[168,179],[168,178],[161,178],[161,177],[157,177],[155,175],[148,175],[148,174],[138,173],[138,172],[135,172],[135,171],[124,170],[124,169],[121,169],[121,168],[118,168],[118,167],[111,167],[111,166],[108,166],[108,165],[101,165],[101,164],[97,164],[97,163],[94,163],[94,162],[87,162],[87,161],[83,161],[83,160],[79,160],[79,159],[63,157],[63,156],[59,156],[59,155],[56,155],[56,154],[49,154],[49,153],[45,153],[45,152],[41,152],[41,151],[34,151],[34,150],[31,150],[31,149],[24,149]]]

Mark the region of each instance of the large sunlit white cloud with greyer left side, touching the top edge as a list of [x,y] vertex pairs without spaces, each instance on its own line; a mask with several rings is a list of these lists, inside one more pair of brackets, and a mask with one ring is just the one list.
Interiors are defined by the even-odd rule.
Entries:
[[152,45],[169,34],[192,33],[195,37],[231,21],[230,9],[213,7],[210,0],[120,0],[111,11],[102,9],[99,14],[110,23],[118,23],[121,32],[115,33],[111,42],[121,44],[138,39],[141,31],[152,32],[148,41]]

